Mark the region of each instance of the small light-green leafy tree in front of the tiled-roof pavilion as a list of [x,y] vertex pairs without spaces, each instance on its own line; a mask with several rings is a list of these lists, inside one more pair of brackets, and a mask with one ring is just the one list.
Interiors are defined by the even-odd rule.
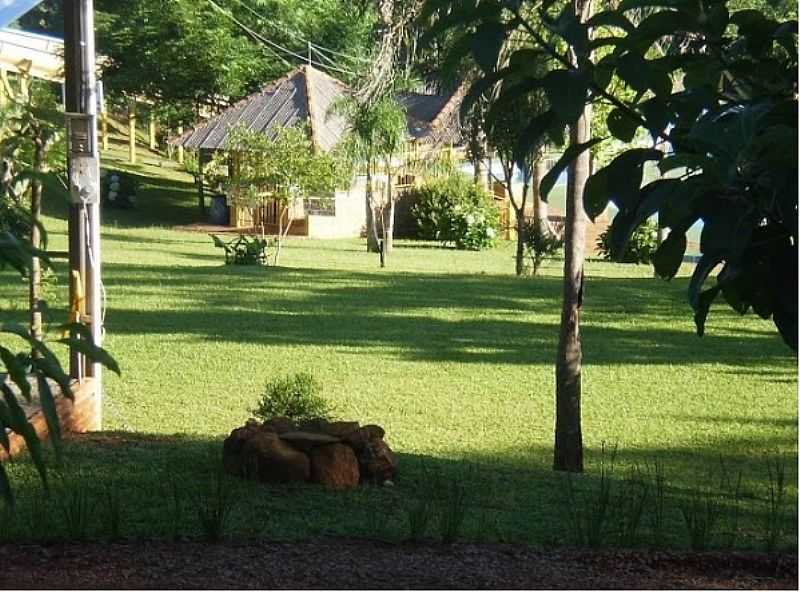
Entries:
[[[231,160],[228,190],[233,199],[250,207],[265,207],[271,200],[279,206],[277,265],[292,226],[292,209],[306,196],[335,191],[343,176],[341,161],[318,152],[301,127],[282,129],[274,139],[238,128],[231,132],[227,149]],[[263,223],[261,234],[263,238]]]

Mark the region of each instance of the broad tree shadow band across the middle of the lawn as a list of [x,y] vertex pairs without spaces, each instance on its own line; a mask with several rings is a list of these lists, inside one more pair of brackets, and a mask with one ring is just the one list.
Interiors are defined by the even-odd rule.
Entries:
[[[409,360],[492,364],[549,364],[558,339],[558,278],[109,265],[106,284],[132,295],[167,294],[176,303],[170,309],[114,309],[108,331],[120,335],[189,334],[365,353],[382,348]],[[749,368],[768,356],[789,360],[777,336],[742,339],[715,331],[713,318],[698,338],[682,299],[675,298],[680,289],[651,279],[591,280],[584,363]]]

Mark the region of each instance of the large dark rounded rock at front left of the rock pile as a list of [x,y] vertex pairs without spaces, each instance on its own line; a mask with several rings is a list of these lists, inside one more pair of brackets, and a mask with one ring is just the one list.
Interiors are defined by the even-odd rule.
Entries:
[[311,476],[308,456],[271,432],[261,431],[247,440],[240,458],[238,474],[264,483],[307,481]]

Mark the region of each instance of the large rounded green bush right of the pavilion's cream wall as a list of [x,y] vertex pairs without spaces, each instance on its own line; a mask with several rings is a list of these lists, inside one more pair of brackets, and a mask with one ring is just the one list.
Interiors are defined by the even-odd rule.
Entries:
[[491,195],[464,176],[436,179],[415,193],[420,238],[473,251],[494,246],[500,214]]

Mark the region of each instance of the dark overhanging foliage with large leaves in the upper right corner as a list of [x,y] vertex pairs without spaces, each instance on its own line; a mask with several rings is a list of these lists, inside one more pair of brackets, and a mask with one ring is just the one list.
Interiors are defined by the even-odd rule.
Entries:
[[[730,13],[725,0],[623,0],[588,22],[553,0],[429,0],[425,16],[437,14],[435,30],[460,27],[471,39],[484,76],[482,91],[498,81],[504,98],[543,89],[551,108],[520,122],[520,154],[543,137],[560,139],[587,103],[613,109],[608,128],[630,142],[640,128],[653,146],[635,146],[587,183],[584,201],[594,218],[609,201],[619,209],[612,225],[616,256],[636,227],[658,214],[669,235],[655,253],[656,272],[674,277],[686,251],[686,232],[698,220],[704,228],[689,302],[698,334],[709,308],[722,297],[734,310],[771,318],[786,343],[797,349],[797,22],[765,11]],[[646,9],[645,18],[639,18]],[[551,42],[540,32],[557,36]],[[507,40],[528,38],[559,66],[544,76],[530,60],[497,56]],[[680,50],[652,51],[665,38],[679,38]],[[577,56],[564,59],[564,48]],[[527,52],[531,49],[520,49]],[[616,96],[621,80],[633,91]],[[476,94],[476,93],[472,93]],[[655,149],[657,140],[669,147]],[[602,138],[571,145],[542,181],[542,195],[582,152]],[[655,161],[671,178],[642,186],[645,163]],[[719,269],[713,285],[706,286]]]

